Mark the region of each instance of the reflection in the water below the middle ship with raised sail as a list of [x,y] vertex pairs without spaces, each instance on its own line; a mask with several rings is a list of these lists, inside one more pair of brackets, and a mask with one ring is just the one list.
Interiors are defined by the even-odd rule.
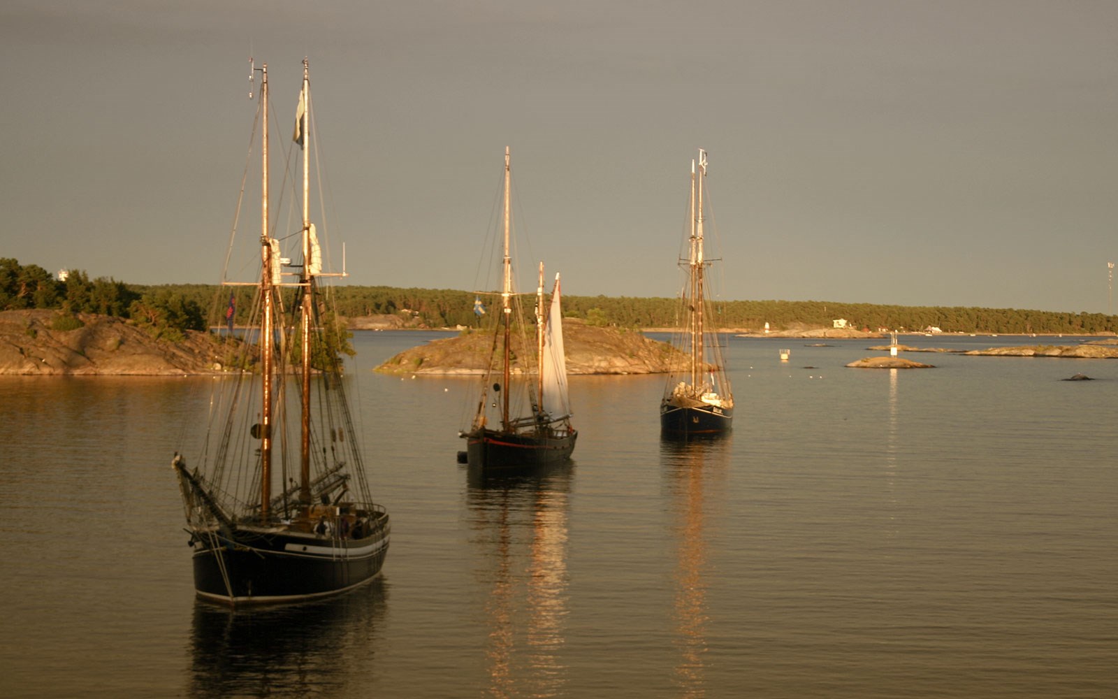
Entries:
[[475,575],[490,591],[485,662],[494,697],[563,693],[571,471],[470,472],[470,540],[484,554]]

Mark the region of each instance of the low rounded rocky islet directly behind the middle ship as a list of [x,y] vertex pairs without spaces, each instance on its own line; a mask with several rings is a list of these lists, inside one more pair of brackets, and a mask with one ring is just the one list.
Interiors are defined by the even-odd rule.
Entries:
[[[534,336],[527,344],[513,333],[514,370],[521,371],[519,357],[533,357]],[[434,340],[400,352],[377,367],[385,374],[482,374],[486,368],[491,332],[464,332],[445,340]],[[636,330],[587,325],[563,319],[563,349],[567,374],[663,374],[673,353],[665,342],[651,340]]]

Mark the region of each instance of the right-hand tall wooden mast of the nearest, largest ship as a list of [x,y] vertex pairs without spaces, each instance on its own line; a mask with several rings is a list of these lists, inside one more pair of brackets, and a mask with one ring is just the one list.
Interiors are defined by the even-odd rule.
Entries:
[[303,58],[303,92],[300,94],[303,113],[299,119],[300,133],[303,136],[303,271],[300,274],[300,289],[303,292],[303,305],[300,312],[302,336],[302,352],[300,353],[303,390],[300,403],[300,448],[299,448],[299,499],[311,506],[311,314],[314,310],[314,280],[311,276],[311,72],[306,58]]

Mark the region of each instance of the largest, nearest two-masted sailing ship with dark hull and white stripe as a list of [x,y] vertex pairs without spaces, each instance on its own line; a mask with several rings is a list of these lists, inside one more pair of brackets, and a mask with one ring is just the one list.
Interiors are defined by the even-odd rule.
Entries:
[[294,138],[302,149],[303,220],[290,236],[300,245],[291,258],[282,256],[269,223],[267,64],[253,67],[250,79],[257,70],[260,273],[255,282],[226,282],[254,287],[254,330],[231,340],[244,353],[233,376],[216,381],[201,465],[191,469],[178,452],[172,462],[195,589],[233,606],[322,597],[368,583],[381,569],[391,529],[370,495],[339,357],[347,336],[328,306],[324,277],[345,273],[323,272],[310,221],[309,65],[304,59]]

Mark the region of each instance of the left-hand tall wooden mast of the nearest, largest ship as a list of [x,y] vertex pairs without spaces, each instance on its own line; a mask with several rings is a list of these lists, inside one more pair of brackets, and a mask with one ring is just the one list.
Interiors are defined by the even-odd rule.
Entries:
[[260,153],[263,158],[260,179],[260,296],[264,320],[260,327],[260,355],[263,388],[260,397],[260,519],[268,519],[272,500],[272,327],[274,313],[272,303],[272,266],[275,251],[268,235],[268,64],[260,67],[260,116],[263,129]]

